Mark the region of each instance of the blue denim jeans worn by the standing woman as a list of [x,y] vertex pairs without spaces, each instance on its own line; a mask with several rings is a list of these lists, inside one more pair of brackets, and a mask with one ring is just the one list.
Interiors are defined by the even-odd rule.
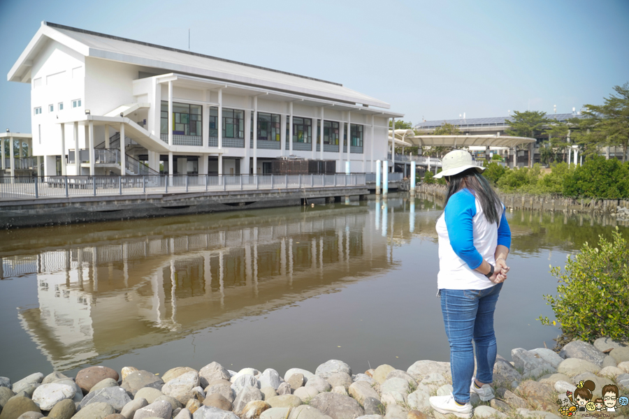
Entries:
[[450,343],[450,370],[454,399],[470,401],[470,383],[474,374],[476,344],[476,378],[484,384],[493,381],[496,362],[496,335],[493,333],[493,311],[503,284],[484,290],[441,291],[441,311]]

